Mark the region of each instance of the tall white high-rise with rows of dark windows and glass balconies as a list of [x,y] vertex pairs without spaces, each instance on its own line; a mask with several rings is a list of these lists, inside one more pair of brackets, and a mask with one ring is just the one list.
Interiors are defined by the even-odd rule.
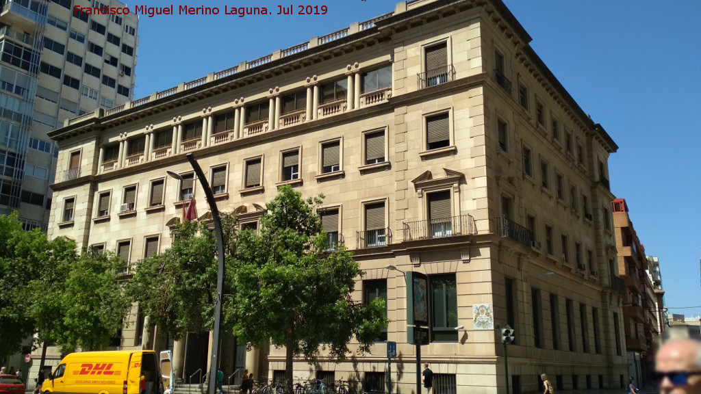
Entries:
[[0,13],[0,215],[48,226],[57,149],[47,134],[97,108],[130,101],[138,18],[74,13],[112,0],[6,0]]

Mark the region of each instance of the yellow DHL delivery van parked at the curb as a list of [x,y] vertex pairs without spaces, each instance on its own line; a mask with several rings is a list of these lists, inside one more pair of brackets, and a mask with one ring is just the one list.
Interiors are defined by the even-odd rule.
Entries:
[[163,394],[164,384],[170,385],[170,352],[82,352],[64,357],[41,393]]

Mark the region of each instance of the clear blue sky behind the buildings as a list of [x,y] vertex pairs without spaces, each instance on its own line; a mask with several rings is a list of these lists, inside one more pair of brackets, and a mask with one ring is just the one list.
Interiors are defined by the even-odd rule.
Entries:
[[[184,3],[128,6],[142,4],[173,4],[177,14]],[[388,13],[395,1],[297,2],[294,15],[244,18],[224,15],[224,6],[277,12],[291,3],[205,4],[222,12],[140,18],[135,99]],[[327,13],[297,15],[302,4]],[[611,191],[626,199],[646,253],[660,258],[670,312],[700,314],[701,307],[677,308],[701,306],[701,1],[505,4],[547,67],[620,147],[609,161]]]

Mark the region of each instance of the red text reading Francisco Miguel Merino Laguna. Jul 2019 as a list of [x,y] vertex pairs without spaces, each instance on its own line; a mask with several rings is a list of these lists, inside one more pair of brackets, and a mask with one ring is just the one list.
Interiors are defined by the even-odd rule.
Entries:
[[[133,9],[132,9],[133,8]],[[171,4],[163,7],[149,6],[133,6],[130,7],[81,7],[74,6],[75,14],[86,13],[92,15],[128,15],[130,13],[137,15],[148,15],[149,18],[155,15],[236,15],[243,18],[245,15],[325,15],[328,11],[327,6],[273,6],[270,10],[267,7],[229,7],[224,6],[224,10],[219,7],[189,7],[178,6],[177,10]]]

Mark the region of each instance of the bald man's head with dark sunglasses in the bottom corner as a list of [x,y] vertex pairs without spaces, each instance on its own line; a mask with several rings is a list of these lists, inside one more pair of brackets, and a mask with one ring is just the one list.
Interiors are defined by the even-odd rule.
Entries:
[[676,339],[655,355],[660,394],[701,394],[701,341]]

